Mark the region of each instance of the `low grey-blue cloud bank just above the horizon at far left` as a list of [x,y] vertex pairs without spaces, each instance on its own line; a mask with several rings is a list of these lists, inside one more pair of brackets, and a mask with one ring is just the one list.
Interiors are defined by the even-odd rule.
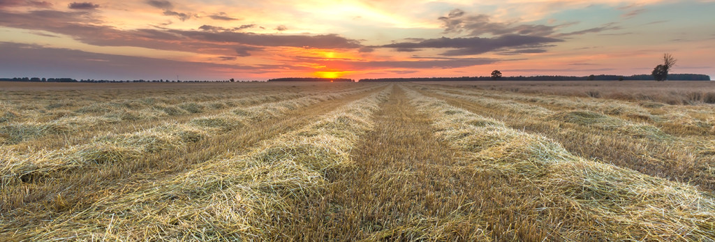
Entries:
[[[48,76],[75,79],[223,79],[236,72],[274,69],[277,66],[242,66],[172,61],[137,56],[97,54],[31,44],[0,42],[0,73],[8,76]],[[47,56],[61,56],[61,61]]]

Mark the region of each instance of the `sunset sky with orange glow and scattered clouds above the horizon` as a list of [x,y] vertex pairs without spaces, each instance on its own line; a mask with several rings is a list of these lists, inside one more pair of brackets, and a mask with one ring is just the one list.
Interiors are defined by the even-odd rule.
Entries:
[[715,76],[715,0],[0,0],[0,77]]

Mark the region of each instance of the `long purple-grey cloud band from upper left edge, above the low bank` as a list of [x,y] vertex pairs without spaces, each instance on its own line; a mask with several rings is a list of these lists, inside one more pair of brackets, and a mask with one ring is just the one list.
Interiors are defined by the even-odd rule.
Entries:
[[[360,41],[346,39],[335,34],[325,35],[275,35],[232,32],[255,27],[248,24],[232,31],[203,26],[197,31],[172,29],[122,30],[103,25],[94,14],[72,11],[37,10],[28,12],[3,11],[0,9],[0,26],[39,31],[43,34],[70,36],[84,44],[96,46],[136,46],[147,49],[187,51],[220,56],[248,56],[264,51],[262,47],[308,47],[319,49],[360,49]],[[240,48],[236,46],[254,46]],[[4,55],[4,54],[3,54]]]

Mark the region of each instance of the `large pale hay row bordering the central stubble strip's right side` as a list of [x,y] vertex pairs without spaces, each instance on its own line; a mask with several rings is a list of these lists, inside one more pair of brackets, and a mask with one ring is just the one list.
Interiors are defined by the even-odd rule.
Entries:
[[439,138],[465,151],[467,166],[519,176],[540,188],[542,196],[533,199],[541,204],[542,221],[563,221],[568,231],[561,231],[562,236],[581,234],[613,241],[715,239],[715,200],[709,193],[573,156],[543,136],[508,128],[416,91],[408,95],[413,105],[433,117]]

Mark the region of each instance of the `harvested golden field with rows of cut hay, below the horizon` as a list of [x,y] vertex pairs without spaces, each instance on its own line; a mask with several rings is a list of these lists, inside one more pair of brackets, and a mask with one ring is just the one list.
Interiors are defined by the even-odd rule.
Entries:
[[714,85],[594,83],[1,83],[0,241],[715,241]]

